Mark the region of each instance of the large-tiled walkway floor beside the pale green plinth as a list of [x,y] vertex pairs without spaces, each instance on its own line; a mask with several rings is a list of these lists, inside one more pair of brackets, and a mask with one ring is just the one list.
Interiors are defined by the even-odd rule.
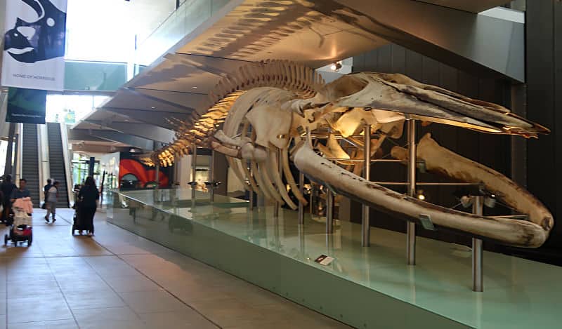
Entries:
[[103,213],[93,239],[70,235],[71,210],[55,224],[42,215],[31,247],[0,248],[0,329],[348,328],[107,224]]

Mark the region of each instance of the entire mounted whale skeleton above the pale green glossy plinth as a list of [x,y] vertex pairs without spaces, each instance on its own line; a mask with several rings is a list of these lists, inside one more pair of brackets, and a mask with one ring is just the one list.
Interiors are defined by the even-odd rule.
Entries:
[[[293,161],[302,173],[334,192],[406,220],[424,214],[438,228],[509,246],[537,248],[544,243],[554,218],[535,196],[501,173],[441,147],[431,135],[422,137],[417,146],[417,160],[424,161],[426,170],[461,182],[480,182],[528,220],[452,210],[360,177],[362,127],[369,125],[378,136],[371,140],[372,159],[385,140],[401,137],[409,119],[492,134],[537,137],[549,133],[505,107],[402,74],[362,72],[324,83],[317,72],[303,65],[266,60],[223,74],[190,121],[170,120],[176,125],[176,140],[152,159],[166,166],[195,145],[209,147],[226,154],[235,175],[247,183],[245,188],[296,209],[289,193],[303,204],[307,201],[289,170]],[[326,145],[314,147],[306,132],[327,132]],[[356,149],[342,148],[336,135]],[[403,148],[394,147],[391,154],[407,160]]]

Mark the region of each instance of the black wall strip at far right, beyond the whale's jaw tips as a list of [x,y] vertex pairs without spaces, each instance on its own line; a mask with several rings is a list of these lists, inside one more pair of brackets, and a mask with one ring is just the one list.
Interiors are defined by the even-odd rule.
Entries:
[[558,223],[540,252],[562,264],[562,1],[527,1],[527,116],[551,134],[528,141],[528,189]]

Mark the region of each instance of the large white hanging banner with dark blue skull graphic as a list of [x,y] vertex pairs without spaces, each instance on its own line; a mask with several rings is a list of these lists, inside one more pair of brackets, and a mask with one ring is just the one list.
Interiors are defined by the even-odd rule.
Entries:
[[63,90],[67,0],[8,0],[1,85]]

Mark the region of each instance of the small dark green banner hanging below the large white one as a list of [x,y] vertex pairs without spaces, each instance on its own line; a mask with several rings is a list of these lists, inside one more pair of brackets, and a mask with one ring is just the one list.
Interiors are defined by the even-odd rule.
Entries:
[[47,91],[10,88],[6,122],[45,123]]

